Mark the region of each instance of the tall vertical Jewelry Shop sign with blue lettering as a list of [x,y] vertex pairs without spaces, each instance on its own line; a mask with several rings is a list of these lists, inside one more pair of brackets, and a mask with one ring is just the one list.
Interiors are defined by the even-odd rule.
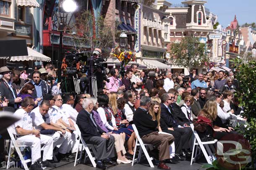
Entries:
[[137,31],[137,35],[135,37],[134,50],[138,52],[140,47],[140,5],[138,4],[134,14],[134,28]]

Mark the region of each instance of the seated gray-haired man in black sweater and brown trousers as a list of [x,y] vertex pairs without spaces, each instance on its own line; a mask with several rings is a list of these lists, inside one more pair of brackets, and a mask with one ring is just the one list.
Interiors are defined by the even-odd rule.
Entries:
[[169,145],[174,141],[174,137],[169,134],[159,134],[157,131],[158,122],[153,120],[152,116],[148,114],[151,106],[151,99],[147,96],[141,98],[140,107],[133,115],[133,123],[138,129],[141,140],[144,143],[157,145],[159,148],[159,164],[158,168],[163,170],[170,170],[170,167],[165,165],[165,160],[170,160]]

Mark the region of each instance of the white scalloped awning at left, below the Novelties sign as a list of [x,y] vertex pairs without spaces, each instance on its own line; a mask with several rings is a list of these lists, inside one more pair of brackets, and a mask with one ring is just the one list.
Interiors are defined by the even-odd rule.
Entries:
[[27,47],[28,49],[28,56],[12,56],[6,57],[8,61],[51,61],[50,57],[45,56],[37,51],[32,50],[31,48]]

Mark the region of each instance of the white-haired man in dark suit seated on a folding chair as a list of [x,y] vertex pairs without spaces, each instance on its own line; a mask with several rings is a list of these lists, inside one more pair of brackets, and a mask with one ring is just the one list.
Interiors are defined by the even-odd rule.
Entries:
[[78,125],[81,136],[87,144],[97,145],[97,167],[106,169],[104,162],[116,165],[116,162],[109,158],[115,157],[115,138],[104,132],[95,122],[92,109],[93,101],[90,98],[83,100],[83,108],[77,115],[76,124]]

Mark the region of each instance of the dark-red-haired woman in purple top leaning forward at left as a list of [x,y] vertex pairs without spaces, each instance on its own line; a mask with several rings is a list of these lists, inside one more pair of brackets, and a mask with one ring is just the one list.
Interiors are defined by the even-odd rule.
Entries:
[[[22,87],[21,91],[19,92],[18,97],[21,97],[22,100],[28,96],[33,98],[32,94],[33,94],[34,89],[35,89],[35,86],[32,83],[30,83],[30,82],[26,83]],[[33,98],[33,99],[35,101],[35,106],[37,106],[38,102],[42,100],[40,97],[36,98],[36,99]]]

